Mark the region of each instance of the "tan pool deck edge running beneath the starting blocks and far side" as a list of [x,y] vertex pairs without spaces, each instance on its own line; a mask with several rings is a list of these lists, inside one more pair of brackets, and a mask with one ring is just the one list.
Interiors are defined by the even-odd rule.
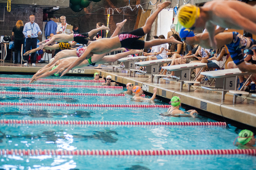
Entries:
[[[6,73],[36,73],[40,68],[42,68],[47,63],[36,63],[36,67],[23,67],[20,64],[5,63],[4,66],[0,63],[0,72]],[[251,97],[251,94],[246,98],[245,95],[242,97],[237,97],[236,103],[233,105],[233,95],[227,93],[225,95],[225,100],[222,101],[222,93],[216,91],[210,91],[202,89],[198,86],[192,86],[191,92],[187,92],[188,85],[183,87],[183,90],[180,91],[180,83],[175,81],[167,81],[160,79],[157,83],[157,79],[154,78],[153,83],[151,83],[151,78],[146,75],[138,75],[135,77],[133,74],[130,76],[127,70],[118,70],[112,72],[112,67],[102,67],[102,69],[94,69],[94,67],[84,67],[86,73],[73,73],[73,74],[94,74],[95,72],[100,73],[100,75],[112,76],[112,80],[118,83],[127,84],[133,83],[134,85],[148,86],[148,92],[153,93],[154,87],[157,87],[158,96],[171,99],[172,96],[180,96],[182,103],[190,105],[192,107],[201,109],[203,111],[208,111],[210,113],[223,116],[225,118],[256,127],[256,99]],[[212,85],[214,87],[214,85]],[[198,87],[198,88],[197,88]],[[196,89],[197,88],[197,89]],[[196,90],[195,90],[196,89]],[[175,93],[174,93],[175,92]],[[173,94],[174,93],[174,94]],[[246,99],[245,99],[246,98]],[[244,100],[245,99],[245,100]],[[244,100],[244,101],[243,101]],[[242,103],[240,103],[243,101]],[[253,109],[254,108],[254,109]],[[221,111],[220,111],[221,109]],[[222,112],[222,113],[221,113]]]

